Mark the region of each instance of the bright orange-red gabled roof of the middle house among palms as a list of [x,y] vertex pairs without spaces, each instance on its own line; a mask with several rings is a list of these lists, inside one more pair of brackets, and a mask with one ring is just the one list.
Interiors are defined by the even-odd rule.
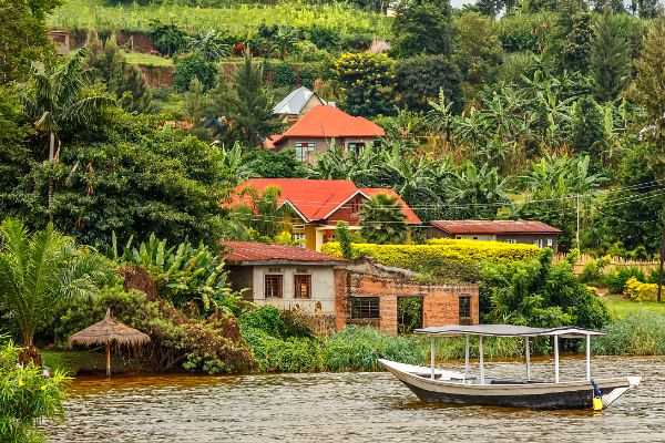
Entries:
[[[305,178],[252,178],[237,186],[236,189],[239,190],[252,185],[260,190],[268,185],[279,186],[282,189],[282,197],[278,202],[279,205],[288,200],[305,222],[327,219],[335,210],[357,194],[367,198],[378,193],[397,195],[392,189],[359,189],[351,181]],[[232,198],[234,200],[232,206],[235,206],[241,202],[237,194],[232,195]],[[248,197],[245,197],[245,202],[248,202]],[[406,222],[409,224],[419,224],[420,219],[409,206],[401,198],[398,202],[405,206],[401,212],[407,216]]]

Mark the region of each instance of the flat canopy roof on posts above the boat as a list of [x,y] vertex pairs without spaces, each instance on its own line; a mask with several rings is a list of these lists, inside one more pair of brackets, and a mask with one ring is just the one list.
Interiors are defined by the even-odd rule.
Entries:
[[442,327],[430,327],[415,329],[413,333],[424,333],[428,336],[492,336],[492,337],[541,337],[559,336],[569,339],[584,339],[589,336],[607,336],[607,332],[594,331],[593,329],[577,328],[574,326],[563,328],[530,328],[528,326],[515,324],[477,324],[462,326],[449,324]]

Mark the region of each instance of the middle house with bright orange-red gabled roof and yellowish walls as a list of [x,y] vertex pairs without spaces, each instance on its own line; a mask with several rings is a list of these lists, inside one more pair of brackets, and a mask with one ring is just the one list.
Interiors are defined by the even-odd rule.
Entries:
[[[360,229],[358,213],[362,203],[372,195],[397,195],[392,189],[358,188],[350,181],[305,178],[252,178],[239,185],[236,190],[246,186],[256,186],[263,190],[268,185],[279,186],[279,206],[290,205],[297,214],[297,218],[291,220],[294,240],[305,239],[304,247],[311,250],[320,250],[325,243],[336,237],[335,225],[339,220],[347,222],[351,230]],[[233,205],[241,203],[237,195],[232,197],[235,197]],[[420,224],[420,219],[401,198],[398,203],[403,205],[401,212],[407,216],[407,224]]]

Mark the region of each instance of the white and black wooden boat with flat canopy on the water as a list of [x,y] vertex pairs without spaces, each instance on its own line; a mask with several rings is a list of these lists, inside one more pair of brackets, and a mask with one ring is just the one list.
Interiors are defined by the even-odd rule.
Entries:
[[[430,367],[403,364],[387,360],[380,354],[379,362],[426,402],[548,410],[600,410],[607,408],[628,389],[636,388],[641,380],[640,377],[591,379],[590,339],[595,336],[606,336],[606,332],[576,327],[542,329],[513,324],[451,324],[417,329],[413,332],[428,334],[431,338]],[[434,338],[460,334],[466,336],[467,340],[464,372],[437,369],[434,367]],[[480,374],[469,372],[469,336],[479,337]],[[485,377],[482,352],[482,338],[485,336],[524,338],[526,380]],[[529,339],[543,336],[554,338],[554,381],[531,380]],[[565,382],[559,380],[560,338],[586,339],[585,379]]]

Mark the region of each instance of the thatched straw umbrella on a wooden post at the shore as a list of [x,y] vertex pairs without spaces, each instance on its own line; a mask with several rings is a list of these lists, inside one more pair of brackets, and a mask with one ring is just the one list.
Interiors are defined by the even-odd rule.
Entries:
[[81,344],[105,344],[106,346],[106,377],[111,377],[111,342],[119,344],[143,344],[150,341],[145,333],[119,323],[111,318],[111,309],[106,309],[106,317],[102,321],[83,329],[71,336],[68,340],[69,347],[75,341]]

